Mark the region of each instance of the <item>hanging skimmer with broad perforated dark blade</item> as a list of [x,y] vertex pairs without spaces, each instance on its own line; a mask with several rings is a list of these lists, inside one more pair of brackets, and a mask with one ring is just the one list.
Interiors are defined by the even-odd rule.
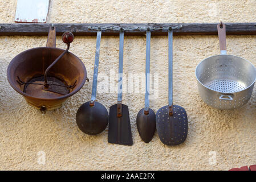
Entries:
[[173,105],[173,30],[168,31],[169,64],[169,105],[161,107],[156,113],[156,128],[162,143],[173,146],[185,141],[188,134],[188,117],[183,107]]

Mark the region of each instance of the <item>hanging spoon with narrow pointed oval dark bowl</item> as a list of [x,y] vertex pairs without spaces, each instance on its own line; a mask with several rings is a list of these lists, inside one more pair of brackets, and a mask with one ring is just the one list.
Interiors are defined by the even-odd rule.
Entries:
[[150,40],[151,31],[147,30],[145,107],[139,111],[136,119],[140,137],[146,143],[151,141],[156,131],[156,114],[149,108]]

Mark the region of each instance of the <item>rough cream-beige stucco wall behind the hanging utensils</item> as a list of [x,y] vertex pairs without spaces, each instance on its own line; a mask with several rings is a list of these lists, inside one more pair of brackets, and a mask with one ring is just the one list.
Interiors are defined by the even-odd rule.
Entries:
[[[16,1],[0,3],[0,22],[13,23]],[[256,22],[254,0],[249,1],[61,1],[50,2],[48,23],[148,23],[148,22]],[[97,135],[82,133],[75,122],[78,107],[90,100],[96,36],[77,36],[70,48],[86,65],[90,82],[60,109],[45,115],[26,104],[6,78],[11,59],[26,49],[44,46],[46,36],[0,36],[0,169],[222,169],[256,163],[256,91],[241,109],[216,110],[198,96],[194,70],[201,60],[219,53],[217,36],[174,36],[174,104],[188,113],[188,138],[180,146],[165,146],[155,134],[142,142],[136,128],[144,94],[124,94],[129,106],[133,146],[107,142],[107,129]],[[152,37],[151,72],[159,73],[157,111],[168,101],[168,40]],[[60,37],[57,47],[65,48]],[[99,73],[118,71],[119,38],[101,39]],[[256,36],[227,36],[227,52],[256,65]],[[145,36],[125,37],[124,73],[143,73]],[[100,79],[99,79],[100,80]],[[98,93],[107,109],[116,94]],[[46,164],[38,164],[39,151]],[[217,163],[209,164],[211,151]],[[210,152],[210,153],[209,153]]]

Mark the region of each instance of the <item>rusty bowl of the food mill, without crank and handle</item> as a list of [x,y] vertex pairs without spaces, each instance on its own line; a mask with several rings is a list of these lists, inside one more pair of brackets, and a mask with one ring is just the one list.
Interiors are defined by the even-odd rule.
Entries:
[[[86,68],[82,61],[71,52],[67,52],[62,59],[50,70],[49,76],[54,76],[65,80],[67,85],[72,85],[77,80],[76,86],[70,90],[70,93],[60,97],[33,97],[23,92],[24,85],[17,82],[19,76],[21,80],[29,82],[31,78],[42,76],[45,69],[58,57],[64,50],[59,48],[40,47],[32,48],[15,56],[7,69],[7,78],[10,85],[18,93],[29,100],[30,104],[40,109],[42,105],[47,110],[56,109],[56,104],[61,106],[66,98],[72,96],[82,88],[86,81]],[[51,56],[51,60],[49,60]]]

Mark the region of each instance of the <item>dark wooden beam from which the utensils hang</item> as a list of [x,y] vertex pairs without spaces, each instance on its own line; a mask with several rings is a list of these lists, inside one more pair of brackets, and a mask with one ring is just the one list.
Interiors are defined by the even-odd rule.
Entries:
[[[256,23],[225,23],[227,35],[256,35]],[[0,23],[0,35],[47,35],[51,23]],[[54,23],[56,34],[71,31],[74,35],[96,35],[91,27],[115,27],[102,31],[102,35],[119,35],[117,28],[136,28],[127,30],[125,35],[144,35],[145,28],[152,30],[152,35],[167,35],[166,27],[182,25],[173,30],[174,35],[217,35],[217,23]],[[165,27],[161,30],[159,27]],[[155,28],[155,29],[154,29]]]

